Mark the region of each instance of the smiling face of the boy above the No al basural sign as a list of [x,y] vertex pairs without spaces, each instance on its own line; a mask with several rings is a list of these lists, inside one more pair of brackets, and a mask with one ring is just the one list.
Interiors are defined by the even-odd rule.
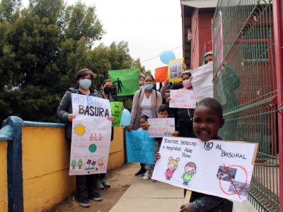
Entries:
[[220,119],[219,112],[212,107],[200,105],[195,109],[193,129],[200,140],[217,139],[217,133],[222,126],[224,119]]

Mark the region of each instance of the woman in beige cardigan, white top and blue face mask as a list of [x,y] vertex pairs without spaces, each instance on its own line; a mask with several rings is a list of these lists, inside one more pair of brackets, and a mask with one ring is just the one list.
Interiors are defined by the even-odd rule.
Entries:
[[[144,89],[137,90],[134,94],[131,124],[127,126],[127,131],[139,129],[139,117],[146,115],[149,119],[158,118],[158,107],[162,105],[161,94],[153,90],[154,76],[147,74],[144,78]],[[136,177],[144,175],[146,170],[141,163],[141,169],[135,174]]]

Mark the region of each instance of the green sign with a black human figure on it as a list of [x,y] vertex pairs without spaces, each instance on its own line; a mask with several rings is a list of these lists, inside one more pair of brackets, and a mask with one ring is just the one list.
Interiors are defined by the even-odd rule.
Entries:
[[134,95],[139,90],[139,68],[108,71],[113,85],[117,86],[117,96]]

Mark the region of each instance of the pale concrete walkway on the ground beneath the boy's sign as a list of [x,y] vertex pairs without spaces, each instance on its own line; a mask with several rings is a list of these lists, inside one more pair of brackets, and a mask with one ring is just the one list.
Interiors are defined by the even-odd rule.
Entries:
[[[184,190],[163,182],[152,182],[136,177],[127,192],[113,206],[110,212],[163,212],[180,211],[184,202]],[[233,212],[256,212],[249,201],[235,202]]]

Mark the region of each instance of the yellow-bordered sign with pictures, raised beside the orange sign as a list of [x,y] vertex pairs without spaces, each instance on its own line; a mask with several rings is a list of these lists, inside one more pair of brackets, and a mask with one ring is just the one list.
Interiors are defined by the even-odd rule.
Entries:
[[168,64],[168,80],[169,82],[183,81],[182,79],[182,64],[184,59],[173,59]]

